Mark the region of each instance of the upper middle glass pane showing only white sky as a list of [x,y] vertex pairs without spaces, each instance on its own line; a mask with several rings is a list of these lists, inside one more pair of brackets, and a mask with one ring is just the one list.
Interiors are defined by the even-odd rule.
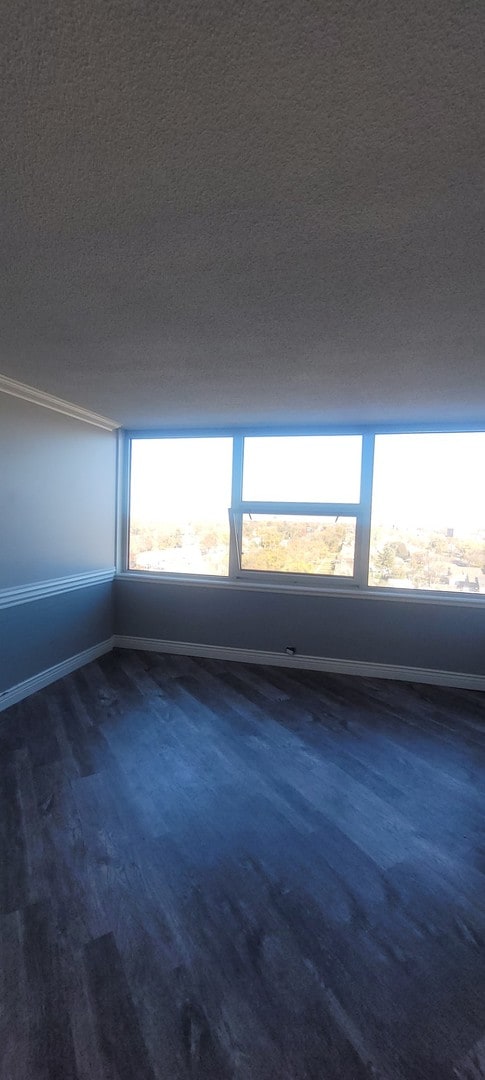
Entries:
[[361,435],[244,440],[247,502],[359,502]]

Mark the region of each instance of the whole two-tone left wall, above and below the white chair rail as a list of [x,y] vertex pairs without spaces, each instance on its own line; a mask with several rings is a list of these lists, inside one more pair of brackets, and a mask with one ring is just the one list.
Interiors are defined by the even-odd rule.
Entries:
[[113,567],[116,434],[0,392],[0,462],[2,691],[111,636],[110,581],[5,591]]

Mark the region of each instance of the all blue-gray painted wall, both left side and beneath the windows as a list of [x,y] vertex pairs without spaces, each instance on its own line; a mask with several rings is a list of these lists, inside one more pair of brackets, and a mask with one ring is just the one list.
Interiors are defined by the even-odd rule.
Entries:
[[0,692],[112,633],[485,675],[485,606],[466,600],[120,578],[2,607],[5,590],[112,567],[116,436],[0,393]]

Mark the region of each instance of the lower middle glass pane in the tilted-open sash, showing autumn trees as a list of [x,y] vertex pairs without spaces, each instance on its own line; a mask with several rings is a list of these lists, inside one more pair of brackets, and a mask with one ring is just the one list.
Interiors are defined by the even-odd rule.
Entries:
[[243,570],[353,576],[354,517],[243,514]]

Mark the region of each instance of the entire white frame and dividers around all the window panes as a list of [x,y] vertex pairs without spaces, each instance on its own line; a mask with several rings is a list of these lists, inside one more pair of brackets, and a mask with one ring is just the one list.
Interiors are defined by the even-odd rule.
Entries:
[[[308,426],[291,427],[247,427],[247,428],[165,428],[156,430],[126,430],[122,436],[120,454],[119,541],[117,563],[119,573],[131,580],[172,582],[183,584],[215,585],[227,588],[257,589],[269,592],[299,592],[325,595],[352,595],[361,597],[392,597],[416,603],[483,604],[485,593],[461,593],[454,591],[396,589],[394,586],[368,584],[371,553],[372,498],[374,480],[374,451],[376,435],[399,434],[453,434],[483,432],[485,422],[467,423],[420,423],[420,424],[373,424],[373,426]],[[361,491],[358,503],[296,503],[257,502],[243,500],[244,438],[251,436],[302,436],[302,435],[360,435],[362,437]],[[131,451],[135,440],[164,438],[232,438],[232,485],[229,514],[229,566],[228,573],[201,575],[163,570],[135,570],[129,566],[130,551],[130,489]],[[241,567],[242,518],[247,513],[278,513],[286,516],[341,516],[355,518],[354,567],[352,576],[310,575],[274,570],[248,570]]]

